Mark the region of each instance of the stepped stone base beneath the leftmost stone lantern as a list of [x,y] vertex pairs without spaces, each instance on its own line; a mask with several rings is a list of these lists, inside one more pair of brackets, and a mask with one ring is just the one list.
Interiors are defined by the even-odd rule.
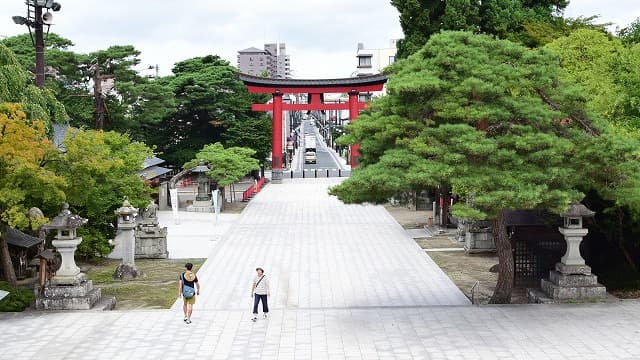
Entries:
[[76,285],[46,286],[35,305],[37,310],[112,310],[115,306],[116,298],[102,296],[91,280]]

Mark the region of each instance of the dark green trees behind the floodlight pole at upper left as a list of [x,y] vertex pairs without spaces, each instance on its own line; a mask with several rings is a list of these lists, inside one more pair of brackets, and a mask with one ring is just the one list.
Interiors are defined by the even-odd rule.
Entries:
[[[25,69],[33,71],[35,52],[28,34],[9,37],[2,43],[16,53]],[[146,141],[160,121],[175,110],[171,89],[139,73],[140,51],[135,47],[114,45],[82,54],[71,50],[71,40],[56,34],[48,35],[46,45],[46,88],[64,104],[71,125],[96,126],[93,79],[97,71],[113,76],[115,84],[113,91],[104,94],[103,129],[128,132],[134,139]]]

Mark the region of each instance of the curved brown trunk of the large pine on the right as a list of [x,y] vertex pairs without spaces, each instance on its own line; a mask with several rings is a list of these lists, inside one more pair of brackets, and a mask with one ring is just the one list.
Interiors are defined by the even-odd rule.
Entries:
[[511,241],[507,235],[506,210],[500,211],[493,222],[493,239],[498,250],[498,283],[493,290],[490,304],[511,303],[511,291],[513,290],[513,252]]

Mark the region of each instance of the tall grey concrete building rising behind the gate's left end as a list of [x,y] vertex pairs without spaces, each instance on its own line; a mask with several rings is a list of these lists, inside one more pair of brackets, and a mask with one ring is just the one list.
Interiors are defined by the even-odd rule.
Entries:
[[264,44],[264,50],[255,47],[238,51],[238,70],[241,73],[270,78],[290,79],[291,60],[284,43]]

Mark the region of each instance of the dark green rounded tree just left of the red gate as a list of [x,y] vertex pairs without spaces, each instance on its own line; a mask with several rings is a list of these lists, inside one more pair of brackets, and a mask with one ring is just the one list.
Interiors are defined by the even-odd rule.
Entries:
[[162,79],[171,87],[177,111],[162,122],[153,144],[176,166],[193,159],[206,144],[250,147],[262,162],[271,142],[268,118],[251,111],[251,103],[266,101],[247,92],[233,68],[215,55],[181,61],[174,76]]

